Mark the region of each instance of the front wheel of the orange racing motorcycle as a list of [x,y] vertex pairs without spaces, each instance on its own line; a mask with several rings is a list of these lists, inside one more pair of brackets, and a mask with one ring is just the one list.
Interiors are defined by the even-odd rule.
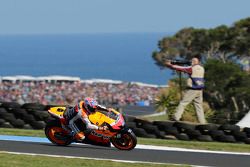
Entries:
[[120,134],[121,136],[111,138],[111,143],[120,150],[132,150],[137,144],[135,134],[131,132],[125,132]]

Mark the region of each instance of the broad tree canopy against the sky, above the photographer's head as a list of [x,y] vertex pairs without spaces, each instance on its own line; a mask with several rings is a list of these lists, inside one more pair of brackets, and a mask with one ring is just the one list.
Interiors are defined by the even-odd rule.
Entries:
[[166,58],[189,59],[200,53],[205,59],[219,59],[223,63],[232,56],[250,56],[250,18],[235,22],[233,26],[221,25],[213,29],[183,28],[174,36],[158,42],[159,51],[152,55],[156,64],[163,66]]

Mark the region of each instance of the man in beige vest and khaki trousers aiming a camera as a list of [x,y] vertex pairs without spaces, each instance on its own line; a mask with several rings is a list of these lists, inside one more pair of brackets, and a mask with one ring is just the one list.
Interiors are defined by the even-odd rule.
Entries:
[[206,123],[204,111],[203,111],[203,89],[204,89],[204,68],[200,65],[200,55],[195,55],[192,58],[191,66],[173,65],[171,61],[166,61],[165,65],[173,70],[187,73],[189,78],[187,80],[187,91],[185,92],[183,99],[179,103],[176,109],[176,113],[172,118],[175,121],[179,121],[185,107],[194,102],[196,114],[200,123]]

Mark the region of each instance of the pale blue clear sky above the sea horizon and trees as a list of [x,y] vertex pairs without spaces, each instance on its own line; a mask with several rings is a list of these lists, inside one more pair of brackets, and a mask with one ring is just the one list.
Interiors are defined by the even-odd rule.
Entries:
[[250,16],[249,0],[0,0],[0,35],[174,33]]

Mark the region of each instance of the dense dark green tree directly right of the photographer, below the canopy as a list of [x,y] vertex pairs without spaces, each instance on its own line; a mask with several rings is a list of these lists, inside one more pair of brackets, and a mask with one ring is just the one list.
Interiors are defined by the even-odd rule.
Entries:
[[[204,97],[220,119],[238,120],[238,114],[249,109],[250,76],[232,62],[208,60],[205,64],[206,89]],[[221,115],[223,111],[224,116]],[[218,120],[216,120],[218,121]]]

